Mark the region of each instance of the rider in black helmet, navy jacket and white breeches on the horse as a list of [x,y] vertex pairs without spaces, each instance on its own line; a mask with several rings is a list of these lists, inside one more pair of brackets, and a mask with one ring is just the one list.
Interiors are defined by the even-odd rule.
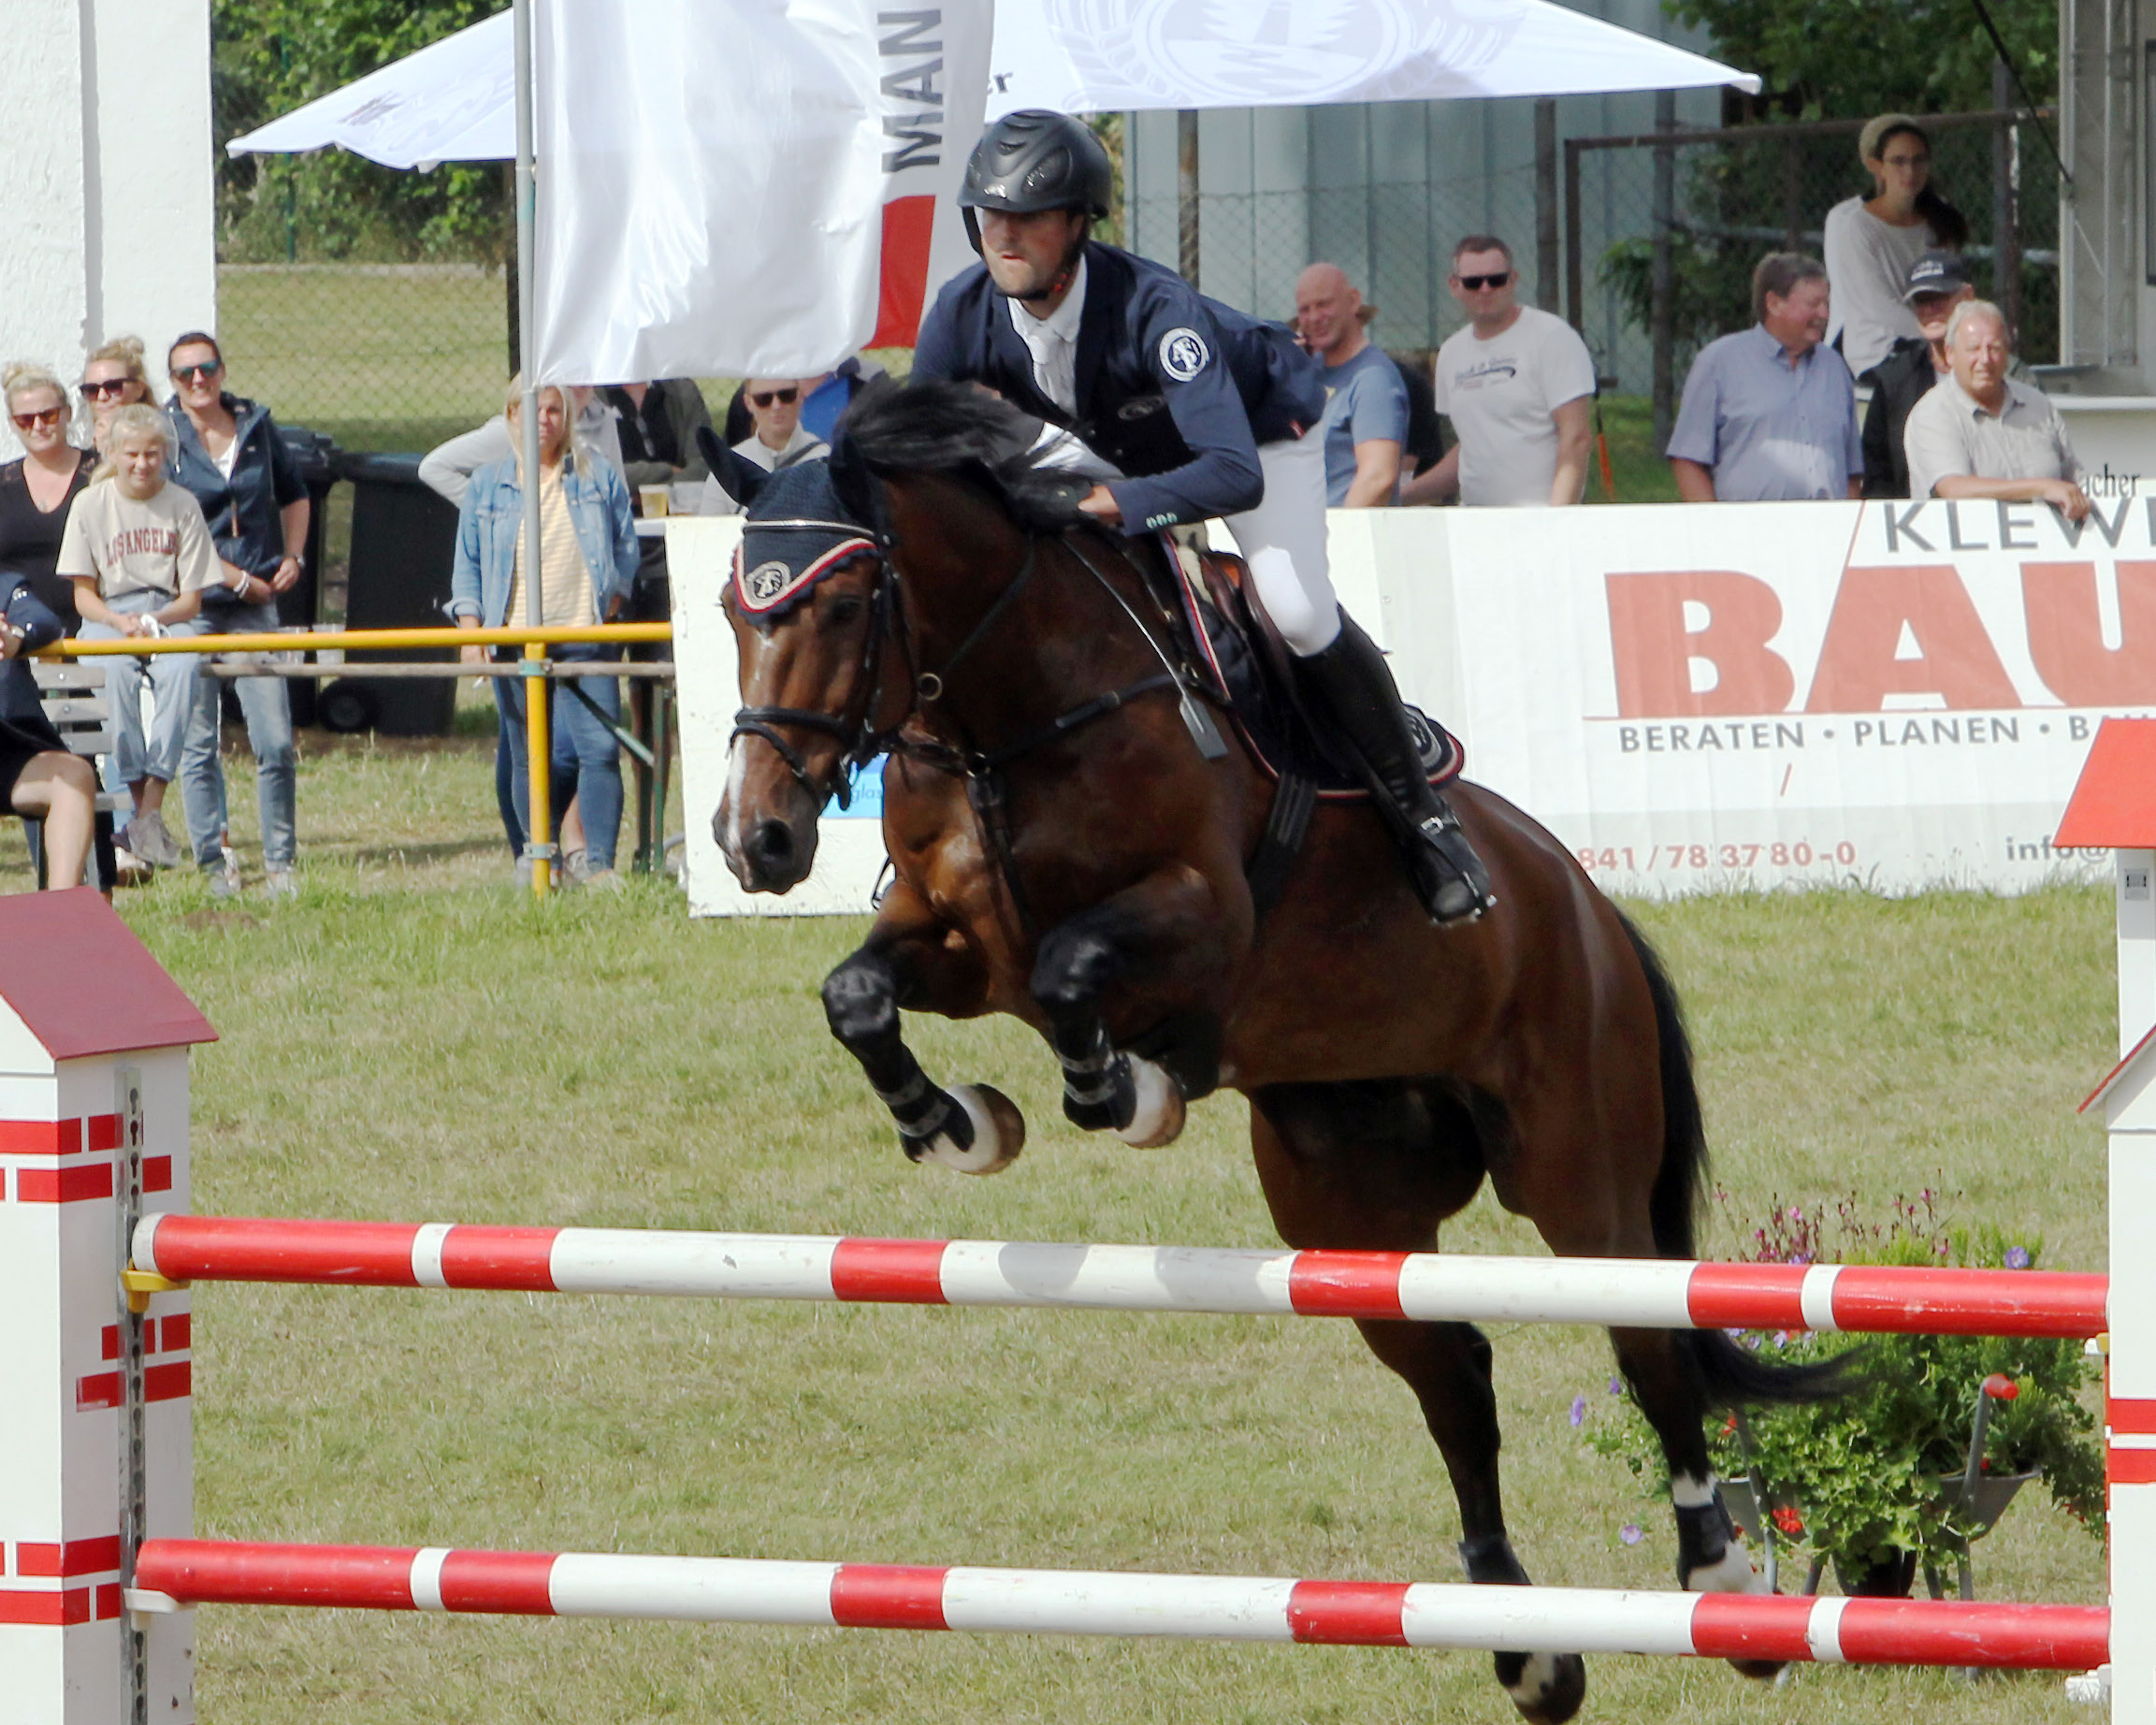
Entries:
[[1082,121],[994,121],[959,190],[981,263],[923,319],[914,377],[987,384],[1115,464],[1123,477],[1078,505],[1102,526],[1138,535],[1225,518],[1304,690],[1397,806],[1429,914],[1479,916],[1488,873],[1423,774],[1393,673],[1326,576],[1324,446],[1304,436],[1324,412],[1317,362],[1283,326],[1091,239],[1110,183]]

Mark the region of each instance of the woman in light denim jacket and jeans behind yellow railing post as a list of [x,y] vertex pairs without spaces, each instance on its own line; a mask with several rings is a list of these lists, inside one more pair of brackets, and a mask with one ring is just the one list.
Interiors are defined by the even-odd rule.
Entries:
[[[509,425],[522,436],[522,377],[509,384]],[[541,619],[548,623],[606,623],[627,599],[636,580],[636,520],[621,472],[597,457],[569,451],[569,420],[561,390],[539,390],[539,584]],[[522,448],[507,461],[492,461],[472,474],[457,505],[457,558],[448,582],[448,612],[457,627],[520,625],[524,599],[524,485]],[[608,660],[606,647],[554,645],[556,660]],[[466,664],[483,664],[485,647],[466,647]],[[565,869],[578,886],[619,886],[614,845],[621,839],[621,746],[593,712],[621,722],[621,688],[612,677],[578,677],[576,688],[591,701],[554,701],[548,686],[552,737],[550,806],[558,830],[571,796],[584,819],[584,860]],[[515,811],[530,832],[530,776],[524,759],[524,679],[496,677],[502,746],[515,768]],[[533,841],[539,834],[530,834]],[[554,834],[548,834],[552,839]],[[511,834],[513,841],[513,834]],[[524,865],[520,862],[520,873]]]

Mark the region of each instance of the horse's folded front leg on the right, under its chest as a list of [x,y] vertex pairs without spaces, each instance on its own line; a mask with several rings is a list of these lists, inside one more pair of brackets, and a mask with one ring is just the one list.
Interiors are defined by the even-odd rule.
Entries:
[[[1112,1130],[1141,1149],[1171,1143],[1184,1130],[1186,1093],[1212,1089],[1214,1078],[1192,1080],[1188,1072],[1179,1078],[1169,1059],[1117,1050],[1102,1020],[1102,994],[1138,985],[1162,1000],[1210,1000],[1227,966],[1229,929],[1212,882],[1184,865],[1050,929],[1031,990],[1063,1063],[1065,1117],[1089,1132]],[[1203,1009],[1181,1018],[1218,1026],[1218,1016]]]

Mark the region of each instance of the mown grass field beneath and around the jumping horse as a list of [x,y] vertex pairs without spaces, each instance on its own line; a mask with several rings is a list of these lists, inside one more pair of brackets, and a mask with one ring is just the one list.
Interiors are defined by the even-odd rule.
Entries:
[[[815,988],[854,921],[690,923],[679,893],[533,906],[487,735],[304,737],[304,893],[121,908],[203,1003],[205,1212],[1270,1244],[1244,1108],[1130,1151],[1061,1123],[1009,1024],[925,1022],[944,1076],[1033,1121],[998,1179],[908,1164]],[[233,763],[235,768],[239,763]],[[248,774],[235,828],[252,834]],[[250,871],[257,858],[248,852]],[[0,886],[22,886],[19,839]],[[1692,1009],[1727,1208],[1945,1188],[1955,1220],[2104,1264],[2074,1102],[2113,1037],[2111,901],[1818,893],[1641,906]],[[1412,1009],[1412,1003],[1404,1003]],[[1479,1199],[1445,1244],[1539,1251]],[[1348,1326],[203,1287],[207,1535],[1451,1581],[1457,1518],[1408,1395]],[[1600,1335],[1496,1335],[1511,1524],[1537,1578],[1671,1585],[1673,1531],[1567,1425]],[[1636,1522],[1636,1546],[1621,1529]],[[2102,1600],[2024,1496],[1979,1585]],[[2055,1680],[1591,1660],[1587,1719],[2078,1719]],[[416,1721],[1507,1721],[1479,1654],[205,1611],[209,1725]]]

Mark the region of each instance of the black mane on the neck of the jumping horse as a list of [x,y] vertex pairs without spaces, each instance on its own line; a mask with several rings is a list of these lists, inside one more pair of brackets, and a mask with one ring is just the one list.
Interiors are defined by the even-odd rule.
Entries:
[[1091,481],[1039,466],[1039,431],[1041,420],[972,384],[877,380],[839,418],[832,468],[957,474],[985,483],[1024,526],[1074,526]]

